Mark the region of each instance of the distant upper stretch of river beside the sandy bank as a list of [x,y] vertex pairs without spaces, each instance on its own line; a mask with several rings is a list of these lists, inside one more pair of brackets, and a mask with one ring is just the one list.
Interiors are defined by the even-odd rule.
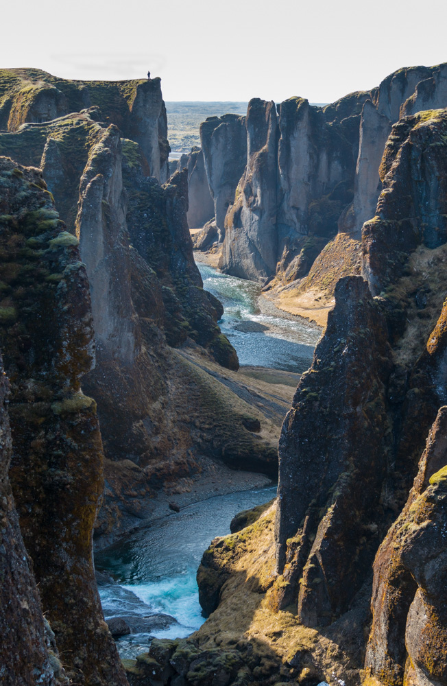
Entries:
[[258,283],[220,274],[204,263],[197,263],[197,267],[204,289],[224,305],[219,327],[234,346],[241,366],[288,372],[304,372],[311,366],[320,329],[298,318],[286,319],[261,312]]

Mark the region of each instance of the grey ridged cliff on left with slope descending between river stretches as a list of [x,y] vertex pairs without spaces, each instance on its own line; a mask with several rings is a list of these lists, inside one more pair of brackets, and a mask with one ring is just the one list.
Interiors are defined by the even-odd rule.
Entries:
[[[209,458],[275,475],[283,410],[272,414],[269,401],[253,413],[258,389],[231,382],[229,390],[224,369],[215,369],[214,361],[235,370],[238,360],[216,324],[221,305],[204,292],[193,261],[186,171],[160,186],[138,144],[101,117],[93,107],[0,132],[0,152],[42,167],[80,241],[97,342],[83,386],[97,401],[106,451],[97,527],[106,542]],[[173,350],[185,346],[186,354]],[[253,414],[261,436],[245,428]]]

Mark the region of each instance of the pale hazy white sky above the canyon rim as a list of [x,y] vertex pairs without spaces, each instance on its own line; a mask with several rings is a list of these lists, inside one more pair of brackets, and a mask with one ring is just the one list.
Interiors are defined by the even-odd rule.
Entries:
[[81,80],[150,69],[167,101],[333,102],[447,62],[446,0],[22,0],[0,19],[0,67]]

